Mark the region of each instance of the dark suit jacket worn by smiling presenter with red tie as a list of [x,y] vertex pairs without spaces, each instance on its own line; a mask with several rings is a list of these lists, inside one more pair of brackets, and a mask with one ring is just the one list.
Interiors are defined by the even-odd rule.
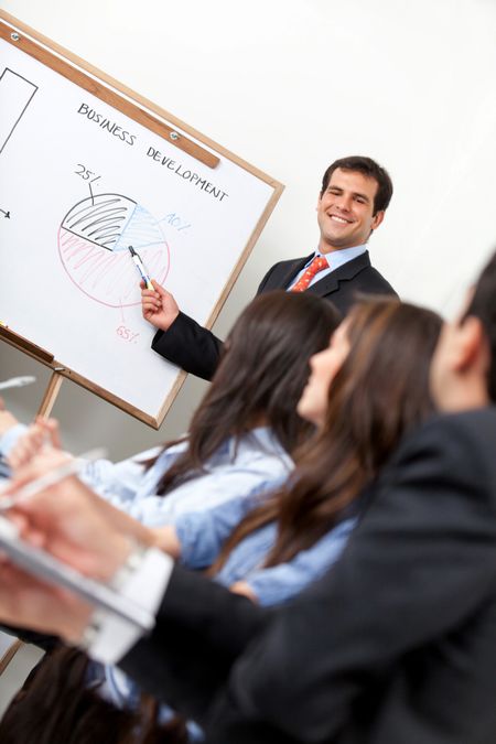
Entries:
[[[285,289],[311,257],[276,263],[263,277],[257,294]],[[370,265],[368,250],[312,284],[308,291],[331,300],[343,315],[357,293],[396,294],[389,282]],[[154,352],[181,369],[207,380],[217,368],[222,345],[217,336],[185,313],[180,313],[168,331],[158,331],[152,341]]]

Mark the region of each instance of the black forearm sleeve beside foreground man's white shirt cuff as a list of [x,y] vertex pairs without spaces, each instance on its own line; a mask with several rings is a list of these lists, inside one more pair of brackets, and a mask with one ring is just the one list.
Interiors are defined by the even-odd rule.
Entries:
[[270,611],[175,565],[153,633],[119,666],[144,690],[202,722],[233,661],[270,616]]

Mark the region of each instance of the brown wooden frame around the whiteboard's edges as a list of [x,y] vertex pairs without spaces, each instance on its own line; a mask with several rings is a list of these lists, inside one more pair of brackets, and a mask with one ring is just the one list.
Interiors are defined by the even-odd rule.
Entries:
[[[256,241],[258,240],[261,230],[263,229],[268,218],[270,217],[277,202],[279,201],[284,186],[279,181],[272,179],[268,174],[258,170],[257,168],[250,165],[242,159],[238,158],[234,153],[229,152],[227,149],[219,145],[214,140],[205,137],[194,128],[186,125],[184,121],[173,116],[165,109],[161,108],[157,104],[152,103],[148,98],[144,98],[137,91],[128,88],[122,83],[119,83],[115,78],[110,77],[103,71],[94,67],[85,60],[73,54],[68,50],[64,48],[56,42],[47,39],[43,34],[39,33],[31,26],[22,23],[20,20],[15,19],[10,13],[7,13],[3,10],[0,10],[0,39],[3,39],[12,46],[25,52],[30,56],[36,58],[42,64],[48,66],[54,72],[63,75],[75,85],[88,90],[96,97],[100,98],[105,103],[109,104],[114,108],[126,114],[129,118],[133,119],[138,123],[142,125],[147,129],[150,129],[154,133],[163,137],[171,144],[174,144],[179,149],[187,152],[190,155],[194,157],[197,160],[201,160],[208,168],[215,169],[216,164],[219,162],[219,157],[230,160],[236,165],[242,168],[251,175],[256,176],[260,181],[263,181],[268,184],[273,193],[270,200],[267,203],[266,208],[263,209],[261,217],[259,218],[257,225],[255,226],[246,246],[242,250],[239,260],[237,261],[235,268],[230,272],[227,281],[225,283],[224,290],[220,293],[207,322],[205,323],[206,327],[212,327],[215,320],[217,319],[233,285],[235,284],[242,267],[245,266]],[[198,140],[202,144],[205,144],[207,149],[203,149],[195,142],[190,141],[184,136],[175,136],[173,128],[161,121],[164,119],[166,122],[171,123],[173,127],[177,127],[182,132],[191,134],[193,138]],[[172,133],[172,137],[171,137]],[[214,153],[209,152],[213,150]],[[100,386],[96,385],[86,377],[79,375],[75,369],[68,369],[62,366],[57,360],[47,362],[46,358],[39,357],[35,352],[29,351],[22,345],[15,343],[15,334],[12,334],[12,339],[1,338],[10,343],[12,346],[20,348],[24,353],[30,354],[30,356],[36,358],[39,362],[45,366],[51,367],[58,375],[66,377],[67,379],[73,380],[77,385],[88,389],[90,392],[99,396],[104,400],[112,403],[114,406],[122,409],[130,416],[143,421],[144,423],[158,429],[162,423],[168,410],[170,409],[173,400],[179,393],[184,379],[186,377],[185,373],[179,371],[175,382],[172,386],[169,395],[166,396],[163,405],[159,411],[159,414],[155,417],[149,416],[145,412],[137,409],[134,406],[129,403],[126,400],[115,396],[112,392],[105,390]],[[33,344],[33,347],[35,345]]]

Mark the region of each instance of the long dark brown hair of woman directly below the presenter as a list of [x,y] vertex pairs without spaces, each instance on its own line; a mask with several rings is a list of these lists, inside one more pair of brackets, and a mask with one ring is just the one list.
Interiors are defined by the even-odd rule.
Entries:
[[220,365],[193,416],[187,449],[163,475],[157,493],[195,477],[228,436],[246,434],[260,420],[292,453],[313,431],[296,413],[309,359],[327,345],[339,320],[331,303],[311,293],[276,290],[256,298],[233,326]]

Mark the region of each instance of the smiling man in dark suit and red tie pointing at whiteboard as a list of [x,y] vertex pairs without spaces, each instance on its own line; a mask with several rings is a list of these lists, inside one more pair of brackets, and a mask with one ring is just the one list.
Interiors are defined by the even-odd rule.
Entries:
[[[382,222],[391,195],[389,174],[370,158],[336,160],[325,171],[319,194],[317,249],[310,256],[276,263],[263,277],[257,294],[293,289],[319,257],[322,265],[308,289],[331,300],[343,315],[356,293],[396,294],[370,265],[367,250],[368,238]],[[142,290],[143,316],[158,328],[152,348],[182,369],[211,379],[222,341],[182,313],[170,292],[157,282],[154,285],[154,292]]]

